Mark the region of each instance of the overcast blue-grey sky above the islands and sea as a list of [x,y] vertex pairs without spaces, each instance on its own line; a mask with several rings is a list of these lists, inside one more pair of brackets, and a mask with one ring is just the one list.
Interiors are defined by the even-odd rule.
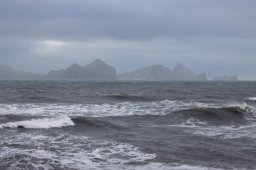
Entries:
[[1,0],[0,65],[48,73],[97,58],[130,72],[182,63],[256,80],[255,0]]

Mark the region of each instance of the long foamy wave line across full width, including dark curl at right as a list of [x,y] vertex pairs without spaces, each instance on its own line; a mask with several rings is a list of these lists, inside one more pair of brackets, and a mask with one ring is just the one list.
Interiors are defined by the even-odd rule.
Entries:
[[[100,104],[69,104],[69,103],[28,103],[28,104],[0,104],[0,115],[17,116],[45,116],[57,117],[66,115],[73,117],[98,118],[108,116],[166,116],[175,113],[187,113],[187,117],[214,120],[242,120],[256,118],[256,108],[247,103],[232,103],[220,105],[217,103],[203,103],[195,101],[151,101],[151,102],[123,102]],[[190,116],[190,117],[189,117]],[[9,119],[9,118],[8,118]],[[0,120],[1,121],[1,120]],[[78,120],[75,120],[78,121]],[[87,120],[86,120],[87,121]],[[2,121],[3,122],[3,121]],[[224,121],[223,121],[224,122]]]

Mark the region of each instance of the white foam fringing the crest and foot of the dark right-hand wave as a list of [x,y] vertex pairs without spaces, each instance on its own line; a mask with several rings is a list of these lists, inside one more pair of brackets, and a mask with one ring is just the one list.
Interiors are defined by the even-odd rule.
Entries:
[[256,138],[256,108],[247,103],[228,103],[225,105],[211,105],[208,108],[234,108],[237,112],[243,113],[249,120],[247,125],[238,126],[210,126],[206,121],[190,118],[181,124],[169,125],[184,128],[187,132],[202,136],[212,136],[216,138]]

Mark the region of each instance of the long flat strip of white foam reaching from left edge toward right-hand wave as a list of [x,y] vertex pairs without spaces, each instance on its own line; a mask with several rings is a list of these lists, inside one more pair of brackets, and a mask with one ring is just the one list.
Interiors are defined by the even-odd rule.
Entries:
[[206,108],[210,106],[212,106],[210,103],[170,100],[113,104],[0,104],[0,115],[15,114],[22,116],[58,116],[59,114],[65,114],[67,116],[86,117],[130,116],[146,114],[165,115],[173,111],[185,110],[189,108]]

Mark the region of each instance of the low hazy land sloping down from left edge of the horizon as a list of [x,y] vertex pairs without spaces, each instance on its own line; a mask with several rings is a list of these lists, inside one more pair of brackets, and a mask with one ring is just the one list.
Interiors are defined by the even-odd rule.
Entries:
[[0,79],[44,79],[45,75],[15,70],[7,65],[0,65]]

